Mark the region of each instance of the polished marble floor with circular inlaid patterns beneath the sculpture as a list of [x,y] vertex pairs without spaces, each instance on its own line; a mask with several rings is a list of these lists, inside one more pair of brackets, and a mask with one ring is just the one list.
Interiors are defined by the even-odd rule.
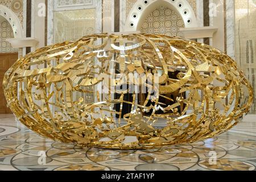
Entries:
[[256,115],[247,115],[232,130],[193,144],[156,150],[81,148],[42,138],[0,115],[1,170],[243,170],[256,166]]

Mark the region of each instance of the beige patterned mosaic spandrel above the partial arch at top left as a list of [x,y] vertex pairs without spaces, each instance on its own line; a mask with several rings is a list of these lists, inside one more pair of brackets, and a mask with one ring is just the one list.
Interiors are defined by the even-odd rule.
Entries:
[[23,26],[23,1],[22,0],[0,0],[0,5],[11,9],[19,18]]

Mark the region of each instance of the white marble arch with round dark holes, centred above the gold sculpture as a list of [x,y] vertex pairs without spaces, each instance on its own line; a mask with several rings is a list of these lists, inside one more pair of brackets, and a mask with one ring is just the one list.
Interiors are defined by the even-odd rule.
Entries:
[[124,30],[141,30],[143,20],[160,6],[168,7],[180,15],[185,28],[197,27],[196,15],[187,0],[138,0],[127,16]]

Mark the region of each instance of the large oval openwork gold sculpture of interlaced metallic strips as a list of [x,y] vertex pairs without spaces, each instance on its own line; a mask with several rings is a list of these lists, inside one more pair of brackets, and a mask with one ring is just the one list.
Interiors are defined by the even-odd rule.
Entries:
[[191,143],[231,129],[253,102],[236,63],[163,35],[90,35],[40,48],[6,72],[10,109],[31,130],[86,147]]

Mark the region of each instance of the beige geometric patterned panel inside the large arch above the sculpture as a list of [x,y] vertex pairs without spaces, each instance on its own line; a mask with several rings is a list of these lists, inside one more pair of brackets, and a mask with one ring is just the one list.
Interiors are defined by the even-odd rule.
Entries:
[[142,24],[142,33],[177,36],[179,29],[184,28],[183,20],[168,7],[159,7],[152,11]]

